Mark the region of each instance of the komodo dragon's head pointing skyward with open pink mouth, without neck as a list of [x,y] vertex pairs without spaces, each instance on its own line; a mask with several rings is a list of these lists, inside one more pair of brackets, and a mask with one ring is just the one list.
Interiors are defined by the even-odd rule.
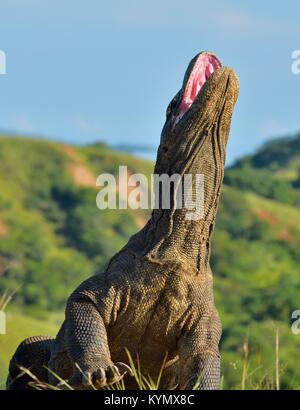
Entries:
[[[239,82],[210,52],[190,62],[180,91],[170,102],[155,173],[211,173],[224,168]],[[209,173],[209,175],[207,175]]]

